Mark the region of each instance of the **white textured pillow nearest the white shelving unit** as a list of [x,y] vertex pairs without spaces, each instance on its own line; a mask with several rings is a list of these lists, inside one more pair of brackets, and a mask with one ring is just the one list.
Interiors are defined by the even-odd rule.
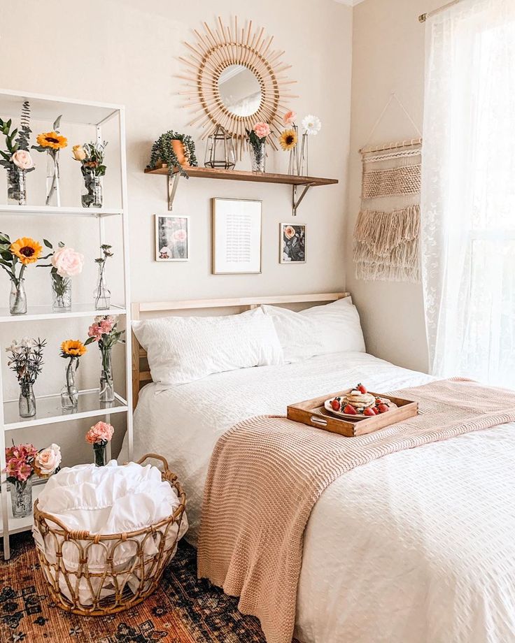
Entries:
[[282,364],[274,322],[260,308],[225,317],[133,321],[157,391],[226,370]]

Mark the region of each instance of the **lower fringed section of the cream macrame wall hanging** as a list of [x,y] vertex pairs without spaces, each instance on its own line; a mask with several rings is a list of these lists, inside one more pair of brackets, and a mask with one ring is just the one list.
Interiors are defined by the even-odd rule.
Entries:
[[420,281],[420,206],[362,210],[354,229],[355,275],[363,280]]

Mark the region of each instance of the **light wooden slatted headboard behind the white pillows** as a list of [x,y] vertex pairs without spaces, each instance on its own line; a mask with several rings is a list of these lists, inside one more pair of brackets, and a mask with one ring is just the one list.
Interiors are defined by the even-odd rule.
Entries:
[[[141,319],[141,315],[155,312],[170,313],[180,310],[198,310],[209,308],[239,308],[251,310],[262,304],[288,305],[288,304],[316,304],[320,302],[336,301],[348,296],[346,292],[323,292],[305,295],[278,295],[274,297],[239,297],[234,299],[183,299],[180,301],[136,302],[132,304],[132,319]],[[138,340],[132,333],[132,403],[134,408],[138,403],[139,391],[142,386],[152,382],[148,368],[146,351],[141,348]]]

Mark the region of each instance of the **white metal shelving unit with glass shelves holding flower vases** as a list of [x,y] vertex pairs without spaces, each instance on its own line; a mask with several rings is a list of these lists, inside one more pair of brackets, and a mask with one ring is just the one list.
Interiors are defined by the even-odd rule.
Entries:
[[[20,113],[23,101],[30,101],[31,117],[34,120],[48,120],[53,122],[57,114],[62,114],[62,123],[89,125],[94,128],[94,137],[102,140],[102,125],[115,119],[118,122],[120,137],[120,190],[121,208],[69,208],[66,206],[51,207],[46,205],[0,205],[0,220],[4,216],[28,217],[71,217],[73,219],[94,219],[99,236],[99,245],[104,243],[104,219],[106,217],[121,217],[122,219],[122,247],[123,247],[123,296],[124,301],[118,305],[111,305],[110,310],[98,311],[93,303],[74,304],[69,312],[52,312],[51,305],[30,306],[27,315],[12,316],[7,308],[0,308],[0,353],[6,345],[3,325],[22,321],[43,321],[48,319],[71,319],[78,317],[92,318],[95,315],[118,315],[125,317],[127,328],[125,342],[125,391],[116,393],[115,401],[109,405],[99,402],[97,389],[80,391],[78,408],[70,413],[61,408],[60,392],[53,395],[36,398],[37,414],[33,418],[20,418],[17,411],[17,400],[3,399],[3,383],[0,369],[0,486],[1,486],[1,514],[3,530],[3,554],[7,560],[10,558],[9,535],[20,531],[29,530],[32,526],[32,517],[14,519],[10,507],[10,492],[7,489],[6,473],[6,434],[20,428],[57,424],[59,422],[75,421],[87,417],[105,417],[109,421],[111,414],[125,413],[127,419],[127,434],[129,445],[129,458],[132,458],[132,364],[131,364],[131,332],[130,332],[130,287],[129,287],[129,224],[127,219],[127,163],[125,152],[125,109],[120,105],[107,103],[93,103],[89,101],[75,101],[57,98],[56,96],[43,96],[41,94],[27,94],[9,89],[0,89],[0,114],[16,116]],[[79,224],[78,224],[79,225]],[[87,229],[89,223],[84,223]],[[33,485],[33,499],[38,496],[43,485]]]

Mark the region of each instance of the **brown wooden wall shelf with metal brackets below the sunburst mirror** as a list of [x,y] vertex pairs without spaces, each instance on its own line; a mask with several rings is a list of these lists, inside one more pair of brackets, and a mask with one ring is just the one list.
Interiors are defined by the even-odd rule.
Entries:
[[[243,170],[223,170],[211,168],[185,168],[188,177],[197,177],[205,179],[220,179],[229,181],[249,181],[254,183],[282,183],[283,185],[292,186],[292,214],[297,215],[297,208],[300,202],[306,196],[310,187],[319,185],[334,185],[338,179],[327,179],[315,176],[296,176],[292,174],[274,174],[269,172],[246,172]],[[169,175],[168,166],[162,165],[160,168],[150,170],[146,168],[146,174],[160,174],[168,177],[168,209],[172,209],[174,196],[176,194],[179,173]],[[304,187],[302,193],[297,197],[297,187]]]

